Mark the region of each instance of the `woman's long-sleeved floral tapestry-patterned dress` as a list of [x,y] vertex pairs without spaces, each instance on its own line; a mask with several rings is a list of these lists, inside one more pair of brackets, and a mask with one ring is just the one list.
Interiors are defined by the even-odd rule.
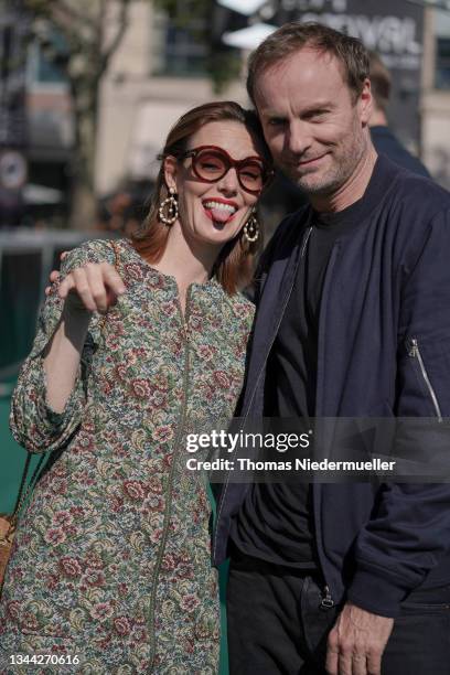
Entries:
[[[127,239],[71,251],[63,275],[115,264],[127,292],[94,314],[62,414],[45,403],[42,353],[62,312],[40,317],[11,410],[15,439],[52,450],[15,537],[0,603],[0,672],[12,654],[77,656],[23,672],[217,672],[219,604],[204,478],[185,439],[229,419],[242,387],[253,306],[216,280],[176,282]],[[191,456],[190,456],[191,457]]]

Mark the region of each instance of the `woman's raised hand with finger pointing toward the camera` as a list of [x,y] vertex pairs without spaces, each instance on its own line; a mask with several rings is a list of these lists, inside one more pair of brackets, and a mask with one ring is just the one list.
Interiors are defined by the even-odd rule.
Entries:
[[[51,280],[52,276],[55,277],[54,271]],[[87,310],[105,314],[126,290],[124,281],[113,265],[89,262],[85,267],[73,269],[61,282],[57,292],[60,298],[65,300],[65,311]]]

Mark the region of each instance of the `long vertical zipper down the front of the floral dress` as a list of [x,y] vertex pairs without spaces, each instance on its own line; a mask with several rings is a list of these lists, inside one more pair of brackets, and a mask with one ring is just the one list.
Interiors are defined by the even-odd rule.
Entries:
[[169,525],[170,525],[170,516],[171,516],[171,508],[172,508],[172,493],[173,493],[173,476],[175,473],[175,467],[176,467],[176,458],[179,454],[179,450],[180,450],[180,443],[181,443],[181,439],[183,436],[183,430],[184,430],[184,426],[185,426],[185,421],[186,421],[186,409],[188,409],[188,388],[189,388],[189,367],[190,367],[190,363],[189,363],[189,352],[190,352],[190,344],[189,344],[189,335],[188,335],[188,322],[189,322],[189,312],[190,312],[190,296],[191,296],[191,287],[189,287],[188,289],[188,293],[186,293],[186,307],[185,307],[185,314],[183,317],[183,311],[181,309],[181,303],[180,303],[180,299],[178,300],[178,307],[179,307],[179,312],[180,312],[180,319],[183,325],[183,336],[184,336],[184,372],[183,372],[183,406],[181,409],[181,417],[180,417],[180,426],[179,426],[179,430],[176,433],[176,438],[175,438],[175,442],[173,446],[173,456],[172,456],[172,463],[170,465],[170,472],[169,472],[169,481],[168,481],[168,490],[167,490],[167,504],[165,504],[165,511],[164,511],[164,522],[162,525],[162,536],[161,536],[161,545],[159,547],[159,551],[158,551],[158,556],[157,556],[157,561],[154,564],[154,571],[153,571],[153,579],[152,579],[152,583],[151,583],[151,600],[150,600],[150,609],[149,609],[149,618],[148,618],[148,624],[150,628],[150,672],[153,668],[153,662],[154,662],[154,656],[156,656],[156,652],[157,652],[157,640],[156,640],[156,630],[154,630],[154,610],[156,610],[156,604],[157,604],[157,588],[158,588],[158,578],[159,578],[159,574],[161,570],[161,565],[162,565],[162,558],[164,557],[164,551],[165,551],[165,544],[168,540],[168,534],[169,534]]

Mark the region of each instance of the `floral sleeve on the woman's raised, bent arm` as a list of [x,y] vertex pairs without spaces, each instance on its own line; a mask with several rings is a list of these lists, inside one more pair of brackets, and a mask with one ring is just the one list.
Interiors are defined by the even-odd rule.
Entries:
[[[67,255],[61,266],[60,282],[74,268],[100,260],[114,261],[105,240],[82,245]],[[53,451],[64,447],[78,428],[87,400],[92,356],[99,341],[99,318],[94,314],[84,344],[81,365],[72,394],[62,413],[46,403],[43,353],[61,320],[64,300],[53,285],[38,320],[38,333],[30,355],[24,361],[12,395],[10,429],[14,439],[30,452]]]

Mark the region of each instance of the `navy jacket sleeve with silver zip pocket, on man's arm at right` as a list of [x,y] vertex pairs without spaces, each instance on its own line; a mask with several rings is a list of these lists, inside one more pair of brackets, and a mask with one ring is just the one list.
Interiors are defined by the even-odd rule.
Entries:
[[[418,258],[404,269],[395,407],[398,417],[441,417],[442,421],[437,424],[447,450],[450,446],[446,420],[450,417],[449,260],[450,213],[447,212],[435,216]],[[411,353],[413,340],[420,345],[421,364],[415,362]],[[428,438],[427,443],[427,433],[422,433],[419,441],[421,456],[432,462],[433,440]],[[397,438],[397,443],[403,443],[406,450],[408,442],[414,441]],[[396,617],[400,602],[449,554],[450,483],[386,484],[373,517],[356,539],[356,572],[347,597],[367,611]]]

